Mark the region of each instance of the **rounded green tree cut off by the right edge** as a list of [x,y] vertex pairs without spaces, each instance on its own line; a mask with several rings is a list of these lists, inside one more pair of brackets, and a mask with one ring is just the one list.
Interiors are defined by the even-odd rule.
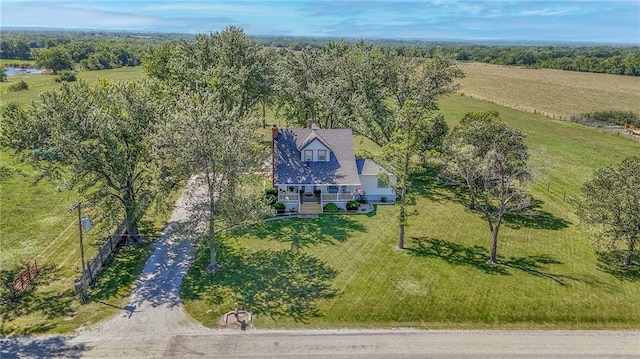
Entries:
[[640,239],[640,157],[596,170],[582,187],[578,216],[595,237],[611,247],[624,243],[630,266]]

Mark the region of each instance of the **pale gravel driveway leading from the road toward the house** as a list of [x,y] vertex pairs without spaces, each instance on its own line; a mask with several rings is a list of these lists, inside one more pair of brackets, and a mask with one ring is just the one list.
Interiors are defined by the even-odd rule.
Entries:
[[207,334],[212,330],[193,321],[180,300],[180,284],[193,261],[193,234],[181,231],[181,224],[194,222],[190,207],[203,198],[205,189],[187,186],[174,207],[163,235],[131,294],[129,304],[115,317],[90,328],[81,328],[74,341],[106,338],[145,338],[166,335]]

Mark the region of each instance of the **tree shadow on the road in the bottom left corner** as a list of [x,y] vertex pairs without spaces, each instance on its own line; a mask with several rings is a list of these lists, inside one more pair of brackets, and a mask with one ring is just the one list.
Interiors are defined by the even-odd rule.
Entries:
[[71,337],[12,336],[0,338],[0,357],[10,358],[81,358],[84,344],[69,345]]

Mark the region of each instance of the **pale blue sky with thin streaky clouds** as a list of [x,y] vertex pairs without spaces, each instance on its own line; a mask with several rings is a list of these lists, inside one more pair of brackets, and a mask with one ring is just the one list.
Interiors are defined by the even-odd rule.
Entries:
[[1,25],[640,45],[640,1],[0,0]]

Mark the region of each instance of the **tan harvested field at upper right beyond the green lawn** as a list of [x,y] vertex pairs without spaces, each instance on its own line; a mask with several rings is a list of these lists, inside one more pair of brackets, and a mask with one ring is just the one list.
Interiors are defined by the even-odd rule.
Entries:
[[640,78],[461,63],[461,92],[555,118],[599,110],[640,112]]

